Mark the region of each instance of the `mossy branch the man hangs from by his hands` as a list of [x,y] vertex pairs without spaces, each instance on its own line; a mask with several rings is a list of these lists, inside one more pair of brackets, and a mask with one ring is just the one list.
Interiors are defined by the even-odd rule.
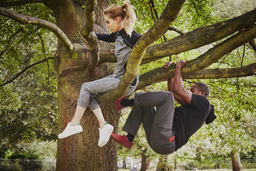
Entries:
[[[182,69],[182,75],[187,75],[193,72],[202,70],[203,68],[209,67],[212,63],[222,58],[235,48],[242,46],[249,42],[249,40],[256,38],[256,25],[251,28],[247,28],[244,31],[231,36],[229,39],[223,41],[217,46],[211,48],[205,54],[198,56],[193,60],[190,60]],[[156,68],[155,70],[149,71],[139,76],[139,84],[137,89],[149,86],[151,84],[161,82],[166,78],[173,78],[175,74],[175,65],[171,65],[165,69],[163,67]]]

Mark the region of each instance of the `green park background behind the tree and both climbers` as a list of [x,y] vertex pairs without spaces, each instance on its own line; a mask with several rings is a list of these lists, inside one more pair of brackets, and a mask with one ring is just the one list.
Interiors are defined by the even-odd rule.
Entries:
[[[134,30],[143,34],[161,15],[167,1],[131,1],[136,7]],[[111,1],[119,3],[122,1]],[[1,3],[0,3],[1,6]],[[238,17],[253,10],[256,2],[247,1],[187,1],[171,25],[182,32]],[[55,23],[51,10],[42,3],[10,7],[27,15]],[[57,156],[58,95],[52,60],[57,37],[49,30],[33,25],[17,25],[0,16],[0,170],[55,170]],[[186,26],[186,27],[185,27]],[[167,31],[154,44],[179,35]],[[217,43],[178,54],[179,59],[194,59]],[[249,43],[223,56],[214,67],[239,67],[255,61],[255,48]],[[168,56],[143,64],[139,74],[161,67]],[[42,62],[41,62],[42,61]],[[31,66],[31,64],[35,64]],[[31,67],[30,67],[31,66]],[[213,67],[211,66],[211,67]],[[27,68],[26,68],[27,67]],[[25,70],[26,69],[26,70]],[[24,71],[24,72],[22,72]],[[17,73],[20,76],[12,80]],[[184,80],[186,88],[194,82],[210,87],[209,100],[214,104],[217,119],[203,125],[189,142],[177,152],[159,155],[150,149],[143,129],[135,137],[135,146],[128,150],[117,146],[118,167],[158,170],[232,169],[231,156],[242,165],[239,170],[256,168],[256,79],[253,76],[230,79]],[[140,91],[166,91],[166,81],[147,86]],[[118,132],[130,109],[121,112]],[[110,140],[112,141],[112,140]]]

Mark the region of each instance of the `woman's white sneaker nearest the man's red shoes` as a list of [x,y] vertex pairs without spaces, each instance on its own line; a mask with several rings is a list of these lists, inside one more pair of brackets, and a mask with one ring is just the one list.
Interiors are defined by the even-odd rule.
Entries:
[[114,127],[110,124],[105,124],[104,128],[99,128],[99,143],[98,146],[104,146],[109,141],[110,135],[113,132]]

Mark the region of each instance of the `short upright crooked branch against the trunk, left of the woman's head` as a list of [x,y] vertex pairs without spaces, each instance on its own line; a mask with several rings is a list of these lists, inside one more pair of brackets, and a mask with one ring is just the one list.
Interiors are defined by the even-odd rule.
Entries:
[[88,50],[91,54],[90,61],[87,67],[87,72],[91,75],[94,75],[95,68],[99,62],[99,46],[97,41],[97,36],[92,34],[95,23],[95,13],[97,1],[90,0],[87,1],[87,5],[85,7],[85,15],[86,21],[85,25],[81,31],[82,36],[87,40]]

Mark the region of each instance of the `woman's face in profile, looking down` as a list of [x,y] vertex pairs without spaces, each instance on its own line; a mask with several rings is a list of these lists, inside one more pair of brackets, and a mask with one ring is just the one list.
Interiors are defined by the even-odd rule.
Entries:
[[117,32],[122,30],[123,28],[123,21],[120,17],[117,18],[110,18],[108,14],[105,15],[105,22],[107,25],[107,28],[110,29],[112,32]]

